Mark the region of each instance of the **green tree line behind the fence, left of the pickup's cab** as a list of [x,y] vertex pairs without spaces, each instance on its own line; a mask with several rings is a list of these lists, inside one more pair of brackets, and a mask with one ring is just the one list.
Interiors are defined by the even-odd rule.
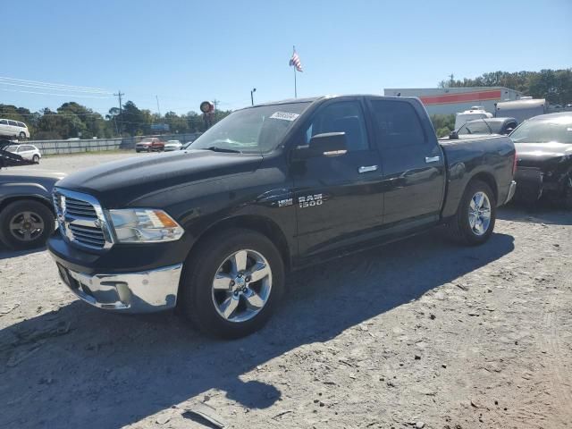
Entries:
[[[231,114],[231,111],[217,111],[214,122]],[[32,139],[109,139],[157,134],[154,124],[167,124],[170,134],[183,134],[206,130],[202,114],[189,112],[164,115],[139,109],[132,101],[119,107],[112,107],[107,114],[99,114],[85,105],[67,102],[57,109],[41,109],[31,112],[25,107],[0,104],[0,118],[20,121],[28,125]]]

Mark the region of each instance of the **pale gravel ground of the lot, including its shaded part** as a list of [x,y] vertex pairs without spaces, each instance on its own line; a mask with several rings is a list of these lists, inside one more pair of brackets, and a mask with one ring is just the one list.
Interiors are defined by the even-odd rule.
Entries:
[[433,231],[291,274],[239,341],[89,307],[45,250],[0,249],[0,427],[572,427],[572,214],[499,217],[478,248]]

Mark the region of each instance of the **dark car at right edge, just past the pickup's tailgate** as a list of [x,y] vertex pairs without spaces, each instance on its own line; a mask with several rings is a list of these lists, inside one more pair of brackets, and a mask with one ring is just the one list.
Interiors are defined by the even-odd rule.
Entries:
[[572,112],[534,116],[510,138],[517,147],[516,199],[545,196],[572,209]]

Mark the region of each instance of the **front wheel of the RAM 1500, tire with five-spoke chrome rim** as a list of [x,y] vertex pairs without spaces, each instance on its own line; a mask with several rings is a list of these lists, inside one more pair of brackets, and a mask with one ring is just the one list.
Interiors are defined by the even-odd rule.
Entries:
[[[247,268],[242,277],[236,273],[237,265]],[[250,273],[260,279],[249,282]],[[216,280],[219,289],[215,290]],[[198,243],[185,262],[179,289],[179,307],[200,331],[226,339],[240,338],[262,328],[280,303],[284,263],[264,235],[229,228]]]

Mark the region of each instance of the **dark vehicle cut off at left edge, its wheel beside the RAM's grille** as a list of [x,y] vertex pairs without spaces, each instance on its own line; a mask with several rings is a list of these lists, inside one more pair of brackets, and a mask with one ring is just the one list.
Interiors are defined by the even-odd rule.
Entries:
[[0,241],[23,250],[46,244],[55,228],[52,189],[63,173],[0,169]]

